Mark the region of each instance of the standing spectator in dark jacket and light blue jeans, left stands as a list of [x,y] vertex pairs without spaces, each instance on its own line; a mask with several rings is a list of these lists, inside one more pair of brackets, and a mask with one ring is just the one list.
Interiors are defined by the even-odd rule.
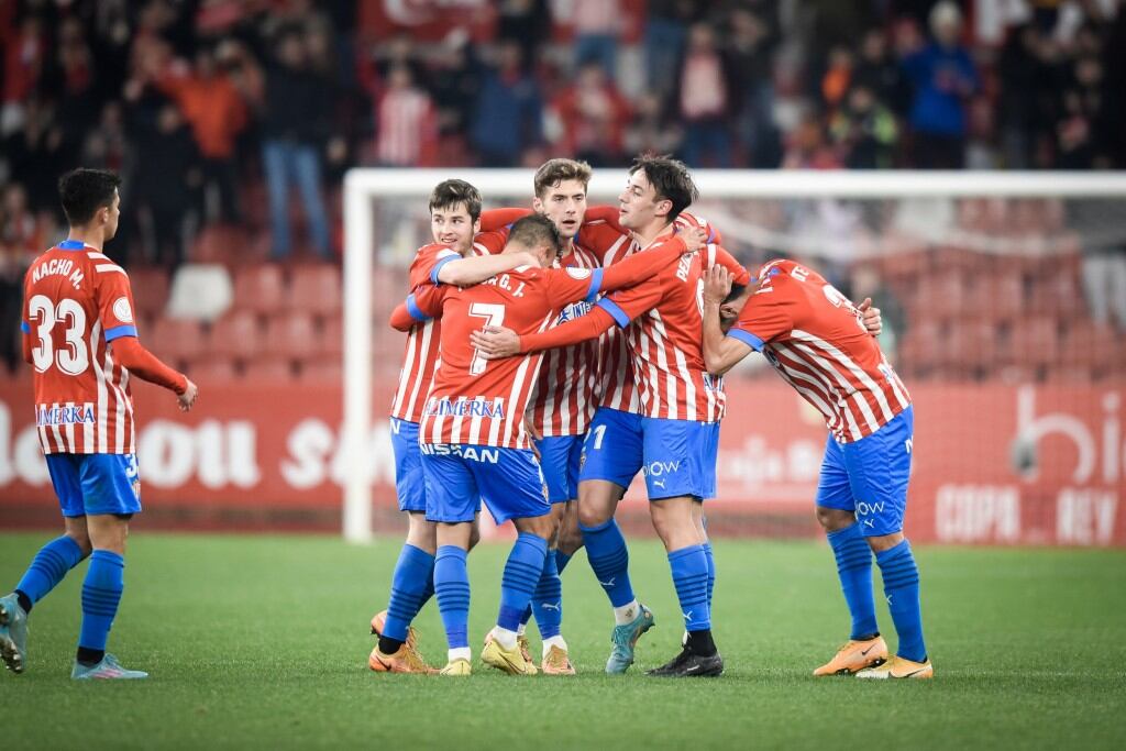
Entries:
[[321,191],[320,146],[329,136],[329,91],[323,77],[309,69],[305,37],[289,27],[278,34],[276,60],[266,73],[266,100],[261,116],[262,166],[270,198],[270,257],[287,258],[289,239],[289,185],[301,191],[309,239],[316,253],[328,260],[329,226]]

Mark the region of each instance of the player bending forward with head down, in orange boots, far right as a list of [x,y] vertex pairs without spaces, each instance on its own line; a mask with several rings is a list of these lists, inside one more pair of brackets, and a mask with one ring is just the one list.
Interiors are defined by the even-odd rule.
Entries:
[[[903,536],[911,396],[865,328],[861,311],[815,271],[792,260],[762,267],[757,289],[725,337],[720,305],[729,289],[726,272],[713,269],[704,290],[708,370],[722,375],[758,350],[829,427],[816,515],[837,557],[852,633],[814,676],[933,677],[922,636],[919,570]],[[900,637],[891,660],[876,625],[873,553]]]

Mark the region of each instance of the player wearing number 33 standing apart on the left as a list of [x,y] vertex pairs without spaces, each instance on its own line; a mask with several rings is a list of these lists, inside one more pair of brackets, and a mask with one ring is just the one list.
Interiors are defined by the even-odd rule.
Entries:
[[0,656],[17,673],[27,663],[32,607],[89,556],[71,678],[148,677],[106,653],[124,587],[128,520],[141,511],[129,381],[175,392],[184,411],[197,390],[137,341],[128,276],[102,252],[117,232],[119,185],[102,170],[64,175],[59,193],[70,233],[24,280],[24,359],[35,370],[35,422],[65,535],[45,545],[16,590],[0,598]]

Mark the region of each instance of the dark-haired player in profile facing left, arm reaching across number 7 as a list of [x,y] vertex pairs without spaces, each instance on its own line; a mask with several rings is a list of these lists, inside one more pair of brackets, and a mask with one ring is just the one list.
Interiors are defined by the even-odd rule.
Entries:
[[[626,253],[649,253],[672,236],[677,217],[695,197],[683,164],[668,158],[637,159],[619,196],[619,222],[633,233],[632,242],[623,240]],[[748,280],[745,270],[726,251],[711,248],[709,252],[716,262]],[[653,625],[650,610],[634,597],[625,539],[614,520],[617,502],[638,470],[646,479],[653,524],[669,553],[688,631],[681,653],[651,672],[715,676],[723,671],[711,633],[715,569],[701,501],[715,493],[724,394],[722,381],[705,372],[700,349],[698,295],[704,262],[700,256],[682,257],[645,284],[602,298],[590,314],[552,331],[517,337],[494,328],[474,334],[474,343],[490,357],[504,357],[598,337],[615,322],[625,329],[640,414],[618,410],[596,414],[584,446],[582,480],[597,482],[600,492],[588,495],[580,488],[579,500],[588,560],[615,609],[614,649],[606,665],[611,673],[624,672],[633,663],[637,638]]]

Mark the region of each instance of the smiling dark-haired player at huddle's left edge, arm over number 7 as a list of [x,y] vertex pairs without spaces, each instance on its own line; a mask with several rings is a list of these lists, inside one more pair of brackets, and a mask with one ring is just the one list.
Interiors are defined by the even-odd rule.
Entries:
[[[503,235],[479,234],[481,194],[465,180],[439,182],[430,195],[430,232],[434,243],[420,248],[411,263],[410,286],[471,285],[520,265],[535,262],[530,254],[498,253]],[[437,552],[435,525],[426,519],[426,482],[419,454],[419,422],[439,360],[441,324],[413,322],[391,406],[391,440],[395,454],[395,491],[399,510],[406,513],[406,540],[391,578],[387,609],[372,619],[378,644],[368,655],[377,672],[431,672],[418,653],[411,622],[434,593]],[[472,543],[476,543],[476,525]]]

